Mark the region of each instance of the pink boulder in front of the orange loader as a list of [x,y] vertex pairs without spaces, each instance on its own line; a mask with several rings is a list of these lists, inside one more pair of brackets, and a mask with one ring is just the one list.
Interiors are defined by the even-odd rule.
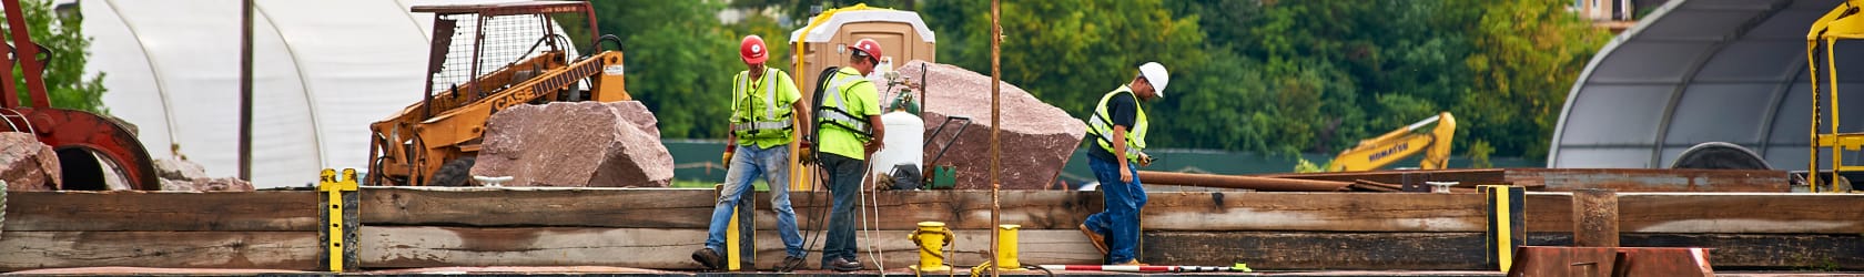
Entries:
[[487,121],[475,177],[505,186],[647,186],[673,182],[673,154],[636,100],[520,104]]

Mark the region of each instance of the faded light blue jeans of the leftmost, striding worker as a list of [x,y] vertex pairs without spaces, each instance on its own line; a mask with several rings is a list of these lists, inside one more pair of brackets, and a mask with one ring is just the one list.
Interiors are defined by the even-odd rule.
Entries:
[[757,149],[738,145],[725,169],[725,191],[720,191],[718,204],[712,206],[712,225],[705,236],[705,247],[725,253],[725,229],[731,227],[731,212],[738,208],[738,199],[751,193],[751,180],[762,175],[770,182],[770,210],[777,212],[777,236],[783,236],[785,253],[803,257],[803,236],[796,234],[796,210],[790,208],[790,149],[785,145]]

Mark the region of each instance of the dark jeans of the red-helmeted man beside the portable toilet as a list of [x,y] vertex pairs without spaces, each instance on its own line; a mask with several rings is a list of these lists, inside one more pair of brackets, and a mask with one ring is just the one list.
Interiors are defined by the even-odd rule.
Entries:
[[835,258],[859,260],[854,242],[854,208],[861,191],[861,175],[867,162],[841,154],[822,154],[822,169],[829,175],[828,191],[835,197],[835,208],[828,212],[828,244],[822,245],[822,264]]

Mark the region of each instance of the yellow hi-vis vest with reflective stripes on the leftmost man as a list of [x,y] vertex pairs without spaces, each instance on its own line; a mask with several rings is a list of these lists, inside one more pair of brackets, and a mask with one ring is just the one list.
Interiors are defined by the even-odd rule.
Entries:
[[[744,141],[783,141],[790,139],[790,104],[779,102],[783,93],[783,71],[764,67],[761,84],[749,84],[749,71],[733,76],[731,89],[731,130]],[[759,87],[753,87],[759,86]],[[755,89],[755,91],[753,91]]]

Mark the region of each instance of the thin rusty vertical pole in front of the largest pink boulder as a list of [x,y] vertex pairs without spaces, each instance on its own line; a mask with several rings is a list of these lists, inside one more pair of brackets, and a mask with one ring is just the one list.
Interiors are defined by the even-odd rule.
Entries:
[[1003,171],[1001,151],[997,141],[997,132],[1003,130],[1003,104],[997,100],[1003,93],[1003,6],[997,0],[990,0],[990,277],[997,277],[997,225],[1001,216],[997,214],[997,190],[1003,188],[997,175]]

